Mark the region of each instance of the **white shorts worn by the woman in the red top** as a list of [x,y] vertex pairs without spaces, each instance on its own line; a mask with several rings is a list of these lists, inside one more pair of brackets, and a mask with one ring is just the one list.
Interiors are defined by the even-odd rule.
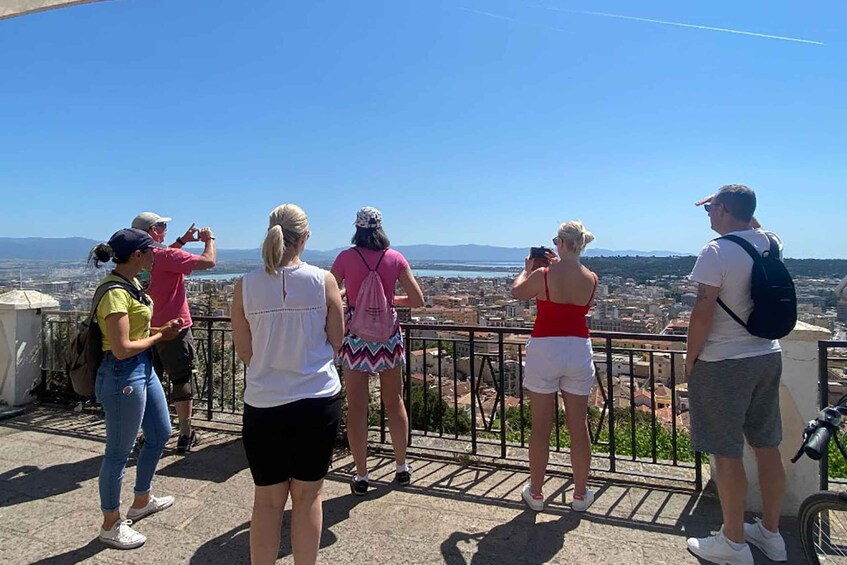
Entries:
[[541,394],[564,391],[591,394],[594,386],[591,340],[584,337],[533,337],[526,344],[523,386]]

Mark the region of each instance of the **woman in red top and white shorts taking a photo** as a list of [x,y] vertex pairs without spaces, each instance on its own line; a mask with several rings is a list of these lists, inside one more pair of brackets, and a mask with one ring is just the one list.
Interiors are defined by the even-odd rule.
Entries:
[[571,508],[584,512],[594,502],[586,486],[591,467],[588,435],[588,395],[594,384],[594,361],[586,315],[594,300],[597,275],[582,266],[580,253],[594,236],[579,221],[559,226],[553,238],[556,253],[548,251],[549,267],[533,270],[527,257],[523,272],[512,283],[512,296],[535,298],[538,315],[526,346],[523,386],[532,412],[529,440],[530,481],[522,496],[535,511],[544,509],[541,486],[547,470],[556,393],[562,392],[571,438],[574,494]]

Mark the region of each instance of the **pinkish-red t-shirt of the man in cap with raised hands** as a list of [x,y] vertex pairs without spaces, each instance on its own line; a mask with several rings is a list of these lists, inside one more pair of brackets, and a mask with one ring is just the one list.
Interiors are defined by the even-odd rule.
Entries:
[[182,318],[184,328],[191,326],[191,312],[185,295],[185,275],[191,274],[199,255],[175,247],[154,247],[153,270],[147,294],[153,299],[153,319],[150,324],[161,326],[168,320]]

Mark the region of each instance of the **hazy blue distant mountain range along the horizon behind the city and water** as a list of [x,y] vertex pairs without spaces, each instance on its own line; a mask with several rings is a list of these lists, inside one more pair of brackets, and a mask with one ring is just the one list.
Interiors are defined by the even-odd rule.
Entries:
[[[82,237],[0,237],[0,260],[52,260],[84,261],[88,252],[99,242]],[[197,251],[197,246],[189,247]],[[319,251],[306,249],[304,259],[313,263],[331,262],[343,247]],[[495,247],[492,245],[397,245],[409,261],[427,262],[503,262],[517,263],[526,257],[523,247]],[[588,257],[674,257],[690,255],[675,251],[637,251],[633,249],[588,249]],[[259,249],[218,249],[221,262],[259,262]]]

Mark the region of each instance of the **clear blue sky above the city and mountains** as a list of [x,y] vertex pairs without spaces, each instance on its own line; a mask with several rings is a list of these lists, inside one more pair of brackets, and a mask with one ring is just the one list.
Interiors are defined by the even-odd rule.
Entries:
[[843,0],[111,0],[0,21],[0,236],[102,240],[153,210],[171,237],[258,247],[294,202],[316,249],[371,205],[395,244],[546,244],[580,218],[597,247],[696,252],[714,234],[693,202],[737,182],[789,256],[845,258],[845,19]]

